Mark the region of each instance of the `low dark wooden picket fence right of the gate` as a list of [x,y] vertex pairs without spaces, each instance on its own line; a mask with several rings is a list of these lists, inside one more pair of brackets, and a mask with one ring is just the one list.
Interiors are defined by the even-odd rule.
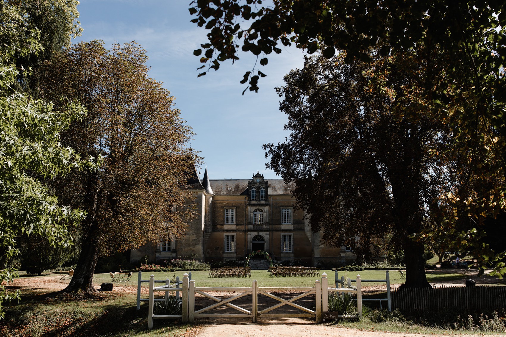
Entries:
[[441,308],[506,308],[506,286],[440,286],[391,289],[392,307],[402,312]]

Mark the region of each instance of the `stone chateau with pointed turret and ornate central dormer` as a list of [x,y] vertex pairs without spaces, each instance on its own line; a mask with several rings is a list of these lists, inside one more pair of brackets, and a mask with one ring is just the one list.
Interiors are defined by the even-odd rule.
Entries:
[[[189,182],[198,216],[178,240],[144,245],[131,251],[131,262],[148,256],[151,262],[177,257],[212,262],[244,259],[265,250],[273,260],[300,261],[307,266],[338,266],[355,260],[350,247],[329,247],[321,233],[311,231],[304,212],[294,208],[294,186],[281,179],[202,180],[196,171]],[[176,210],[177,212],[177,210]]]

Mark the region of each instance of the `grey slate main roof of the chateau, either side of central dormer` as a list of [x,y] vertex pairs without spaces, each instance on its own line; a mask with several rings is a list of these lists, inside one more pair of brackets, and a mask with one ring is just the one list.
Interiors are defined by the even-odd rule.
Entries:
[[[209,180],[215,195],[247,195],[248,182],[251,179]],[[291,194],[294,185],[286,185],[282,179],[270,179],[269,194]]]

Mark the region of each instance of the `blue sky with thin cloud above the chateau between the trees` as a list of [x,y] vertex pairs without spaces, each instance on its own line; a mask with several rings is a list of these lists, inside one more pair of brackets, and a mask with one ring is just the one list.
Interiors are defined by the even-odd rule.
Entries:
[[204,158],[201,177],[207,165],[209,179],[248,179],[257,170],[266,179],[279,179],[265,168],[268,159],[262,145],[288,136],[275,88],[283,85],[290,69],[303,66],[302,51],[278,46],[283,52],[269,55],[269,64],[260,69],[268,76],[261,78],[258,94],[241,95],[246,85],[239,81],[256,61],[250,54],[240,54],[234,64],[225,62],[218,71],[197,78],[200,63],[193,50],[207,42],[207,31],[190,22],[189,3],[82,0],[77,8],[83,32],[72,43],[101,39],[110,48],[114,42],[135,40],[147,51],[150,76],[164,82],[196,134],[191,146]]

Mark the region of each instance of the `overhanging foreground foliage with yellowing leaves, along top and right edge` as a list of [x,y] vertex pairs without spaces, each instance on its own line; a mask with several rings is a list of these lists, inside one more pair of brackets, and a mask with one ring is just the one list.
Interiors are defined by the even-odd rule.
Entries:
[[[453,209],[441,213],[434,233],[458,237],[453,245],[472,249],[484,266],[506,272],[506,251],[486,248],[483,227],[506,207],[504,2],[274,0],[264,6],[261,0],[198,0],[192,5],[192,21],[209,29],[208,43],[194,51],[204,64],[201,68],[207,66],[199,75],[217,70],[225,60],[238,60],[241,49],[260,58],[256,65],[267,65],[268,54],[282,52],[279,44],[294,44],[310,54],[321,49],[327,58],[345,51],[347,62],[371,62],[370,48],[398,56],[425,46],[425,56],[419,57],[428,71],[420,93],[430,100],[433,117],[444,119],[455,131],[448,153],[467,158],[461,160],[466,170],[457,174],[468,187],[459,189],[462,195],[446,193],[440,200],[446,203],[444,209]],[[241,83],[249,80],[249,90],[257,91],[262,76],[254,69]]]

